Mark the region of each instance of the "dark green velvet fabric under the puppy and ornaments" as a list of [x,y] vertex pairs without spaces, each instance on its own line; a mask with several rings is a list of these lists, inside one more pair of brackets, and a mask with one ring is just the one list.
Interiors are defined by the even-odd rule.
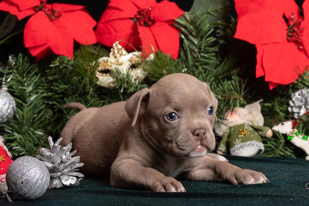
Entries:
[[187,193],[117,189],[109,181],[85,177],[76,187],[50,189],[31,201],[0,199],[0,206],[306,206],[309,205],[309,162],[302,158],[242,158],[230,163],[262,171],[266,184],[229,185],[183,181]]

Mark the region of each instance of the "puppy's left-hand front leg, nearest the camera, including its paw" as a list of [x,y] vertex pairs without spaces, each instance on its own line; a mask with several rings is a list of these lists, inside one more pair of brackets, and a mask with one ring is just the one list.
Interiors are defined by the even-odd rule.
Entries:
[[163,175],[151,167],[134,160],[115,161],[111,168],[111,185],[126,189],[143,189],[154,192],[186,192],[181,182]]

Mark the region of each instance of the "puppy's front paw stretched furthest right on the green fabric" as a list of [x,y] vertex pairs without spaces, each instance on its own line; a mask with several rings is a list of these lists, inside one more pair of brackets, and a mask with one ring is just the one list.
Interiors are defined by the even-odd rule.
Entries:
[[234,173],[234,178],[231,178],[231,183],[233,185],[238,184],[260,184],[260,183],[267,183],[269,180],[266,176],[257,171],[253,171],[251,169],[239,169],[236,170]]

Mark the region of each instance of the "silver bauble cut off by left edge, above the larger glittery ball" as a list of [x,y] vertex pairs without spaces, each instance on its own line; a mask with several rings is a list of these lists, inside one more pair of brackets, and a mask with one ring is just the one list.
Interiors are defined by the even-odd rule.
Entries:
[[7,121],[7,117],[12,117],[16,109],[13,97],[5,89],[0,89],[0,124]]

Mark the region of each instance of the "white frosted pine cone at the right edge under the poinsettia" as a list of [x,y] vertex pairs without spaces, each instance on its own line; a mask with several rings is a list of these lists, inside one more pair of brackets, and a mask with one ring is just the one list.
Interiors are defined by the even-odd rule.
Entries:
[[289,101],[289,112],[294,118],[299,118],[309,111],[309,89],[300,89],[292,94]]

